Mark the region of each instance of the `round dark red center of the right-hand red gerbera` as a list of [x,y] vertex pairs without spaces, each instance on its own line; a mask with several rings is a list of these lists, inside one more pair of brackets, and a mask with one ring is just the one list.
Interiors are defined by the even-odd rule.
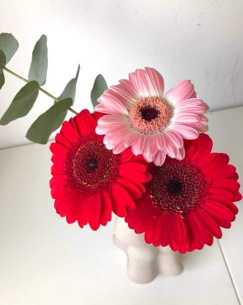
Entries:
[[190,162],[173,159],[156,169],[148,195],[161,212],[185,217],[200,205],[207,186],[202,173]]

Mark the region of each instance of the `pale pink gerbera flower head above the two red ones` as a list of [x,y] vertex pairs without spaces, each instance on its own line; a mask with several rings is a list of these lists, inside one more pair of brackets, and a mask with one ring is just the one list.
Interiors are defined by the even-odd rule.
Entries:
[[183,80],[164,95],[163,77],[152,68],[130,73],[98,102],[95,110],[109,114],[96,128],[107,148],[120,153],[131,146],[134,155],[155,165],[162,165],[166,154],[182,160],[183,139],[194,140],[208,129],[208,106],[196,98],[193,84]]

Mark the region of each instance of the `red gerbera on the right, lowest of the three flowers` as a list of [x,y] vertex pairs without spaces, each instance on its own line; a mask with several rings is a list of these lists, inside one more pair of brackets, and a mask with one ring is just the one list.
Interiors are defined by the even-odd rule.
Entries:
[[169,245],[181,253],[212,245],[221,228],[230,228],[242,199],[238,174],[225,153],[211,153],[212,140],[200,134],[185,141],[185,158],[166,158],[152,170],[146,193],[125,216],[136,233],[154,246]]

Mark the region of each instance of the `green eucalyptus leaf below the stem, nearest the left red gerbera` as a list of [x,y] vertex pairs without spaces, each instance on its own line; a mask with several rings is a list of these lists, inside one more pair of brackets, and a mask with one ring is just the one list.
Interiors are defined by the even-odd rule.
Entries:
[[54,104],[34,121],[27,131],[26,138],[35,143],[46,144],[50,135],[61,126],[71,105],[71,98]]

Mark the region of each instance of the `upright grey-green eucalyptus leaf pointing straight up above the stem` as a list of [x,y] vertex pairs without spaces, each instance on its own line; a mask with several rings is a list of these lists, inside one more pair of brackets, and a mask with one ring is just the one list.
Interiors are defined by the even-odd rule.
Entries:
[[42,35],[34,46],[28,80],[35,80],[40,86],[44,85],[46,82],[47,66],[47,37]]

